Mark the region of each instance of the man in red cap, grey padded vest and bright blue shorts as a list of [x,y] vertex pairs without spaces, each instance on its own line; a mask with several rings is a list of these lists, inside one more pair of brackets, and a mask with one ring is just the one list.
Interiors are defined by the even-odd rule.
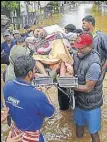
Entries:
[[92,36],[84,33],[73,45],[78,48],[78,52],[74,54],[74,72],[79,83],[79,86],[74,88],[74,121],[78,138],[83,136],[84,125],[87,124],[92,142],[100,142],[98,132],[101,129],[103,77],[100,56],[92,49],[92,42]]

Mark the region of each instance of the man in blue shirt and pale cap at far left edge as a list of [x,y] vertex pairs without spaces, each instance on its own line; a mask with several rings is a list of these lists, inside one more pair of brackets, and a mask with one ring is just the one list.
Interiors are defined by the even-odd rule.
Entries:
[[15,42],[11,39],[10,33],[5,32],[4,40],[1,44],[1,64],[9,64],[9,54],[11,48],[15,45]]

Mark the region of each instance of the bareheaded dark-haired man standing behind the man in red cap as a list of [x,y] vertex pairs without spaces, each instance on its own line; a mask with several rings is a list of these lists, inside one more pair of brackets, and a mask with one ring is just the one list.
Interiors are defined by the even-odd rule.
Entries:
[[93,48],[100,54],[104,78],[107,71],[107,34],[96,30],[95,18],[92,15],[87,15],[82,19],[82,28],[85,32],[90,32],[93,36]]

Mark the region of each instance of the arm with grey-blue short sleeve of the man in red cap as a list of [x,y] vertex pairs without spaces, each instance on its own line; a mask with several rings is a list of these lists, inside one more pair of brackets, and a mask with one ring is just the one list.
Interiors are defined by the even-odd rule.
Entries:
[[86,73],[86,84],[79,85],[78,87],[74,88],[76,91],[89,93],[95,87],[97,80],[101,75],[101,67],[97,63],[93,63],[89,70]]

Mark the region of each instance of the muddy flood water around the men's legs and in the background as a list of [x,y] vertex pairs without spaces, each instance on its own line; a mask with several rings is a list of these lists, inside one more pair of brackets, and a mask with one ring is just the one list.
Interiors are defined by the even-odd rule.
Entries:
[[[96,28],[107,33],[107,13],[91,12],[91,4],[81,4],[77,8],[73,8],[70,12],[65,12],[63,15],[58,16],[56,19],[50,19],[51,24],[58,23],[62,27],[67,24],[74,24],[77,28],[81,28],[82,18],[85,15],[92,14],[96,19]],[[49,22],[50,22],[49,21]],[[46,26],[46,25],[45,25]],[[50,96],[53,102],[56,113],[52,119],[45,119],[43,128],[41,129],[42,134],[45,137],[46,142],[90,142],[91,138],[85,127],[84,136],[82,139],[76,138],[75,135],[75,124],[73,121],[73,110],[60,111],[58,106],[57,88],[51,87],[44,92]],[[107,142],[107,74],[104,80],[103,86],[103,97],[104,104],[102,106],[102,130],[100,132],[101,142]],[[6,126],[3,127],[5,132]]]

